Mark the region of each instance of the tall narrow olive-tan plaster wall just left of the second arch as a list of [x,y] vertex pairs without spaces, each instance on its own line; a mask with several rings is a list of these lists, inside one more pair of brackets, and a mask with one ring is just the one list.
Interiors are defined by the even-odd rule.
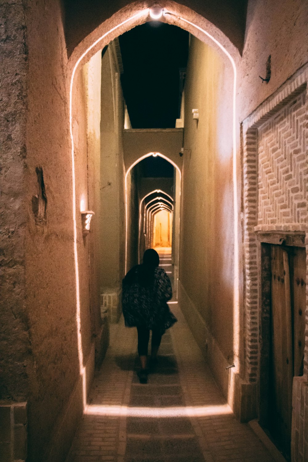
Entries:
[[101,86],[100,286],[103,292],[118,291],[125,271],[124,101],[112,46],[111,43],[103,55]]

